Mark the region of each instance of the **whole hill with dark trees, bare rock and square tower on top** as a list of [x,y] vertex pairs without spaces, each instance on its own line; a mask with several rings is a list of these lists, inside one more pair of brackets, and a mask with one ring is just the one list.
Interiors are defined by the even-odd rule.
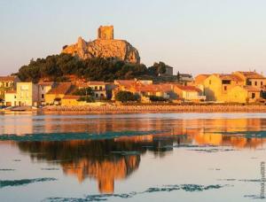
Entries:
[[155,79],[165,72],[166,65],[162,62],[149,68],[140,64],[137,49],[124,40],[114,40],[113,26],[110,26],[98,28],[97,40],[87,43],[80,37],[77,43],[64,46],[59,55],[32,59],[20,67],[17,75],[25,82],[68,82],[71,78],[113,82]]

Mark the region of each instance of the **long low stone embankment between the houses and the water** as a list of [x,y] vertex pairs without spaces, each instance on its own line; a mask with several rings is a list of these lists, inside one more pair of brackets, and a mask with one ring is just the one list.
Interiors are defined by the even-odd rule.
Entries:
[[43,113],[266,113],[266,105],[45,106]]

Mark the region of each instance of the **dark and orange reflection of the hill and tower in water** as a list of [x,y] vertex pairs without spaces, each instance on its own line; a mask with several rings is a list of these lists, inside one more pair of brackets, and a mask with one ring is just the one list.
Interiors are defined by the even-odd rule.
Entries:
[[112,193],[114,180],[124,179],[137,169],[140,154],[172,150],[162,145],[173,145],[173,140],[133,136],[97,141],[18,142],[18,146],[29,152],[32,159],[59,163],[65,174],[76,175],[80,182],[94,177],[100,192]]

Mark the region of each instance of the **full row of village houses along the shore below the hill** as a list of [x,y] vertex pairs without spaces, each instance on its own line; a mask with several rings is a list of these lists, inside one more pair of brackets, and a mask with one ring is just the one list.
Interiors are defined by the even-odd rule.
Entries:
[[[168,66],[166,78],[175,77]],[[0,76],[1,107],[46,105],[119,105],[149,103],[257,104],[265,105],[266,77],[256,72],[231,74],[177,74],[176,82],[115,80],[114,82],[20,82],[16,76]]]

